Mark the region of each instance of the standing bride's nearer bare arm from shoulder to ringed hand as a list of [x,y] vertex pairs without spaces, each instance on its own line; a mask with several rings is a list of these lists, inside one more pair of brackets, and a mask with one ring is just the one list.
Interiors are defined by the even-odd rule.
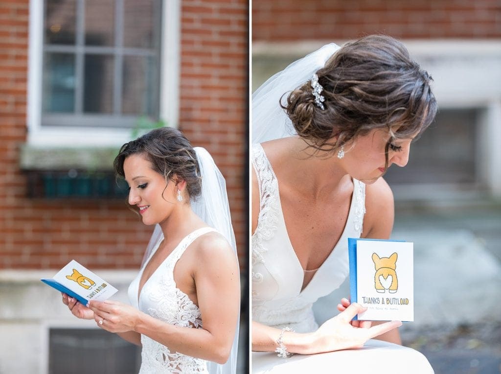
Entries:
[[[214,242],[214,241],[212,241]],[[203,328],[175,326],[116,301],[91,302],[96,321],[110,332],[135,331],[169,347],[172,352],[226,362],[237,323],[239,275],[236,257],[223,239],[198,246],[192,274]],[[193,248],[194,249],[194,248]]]

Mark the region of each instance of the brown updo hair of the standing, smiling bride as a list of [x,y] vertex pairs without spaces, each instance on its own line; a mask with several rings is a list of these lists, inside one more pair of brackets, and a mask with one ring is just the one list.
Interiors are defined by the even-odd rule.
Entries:
[[115,157],[113,167],[117,176],[125,178],[124,161],[131,154],[141,154],[151,162],[154,171],[163,175],[165,182],[173,179],[186,181],[190,198],[201,193],[200,168],[195,151],[183,133],[172,127],[151,130],[136,140],[125,143]]

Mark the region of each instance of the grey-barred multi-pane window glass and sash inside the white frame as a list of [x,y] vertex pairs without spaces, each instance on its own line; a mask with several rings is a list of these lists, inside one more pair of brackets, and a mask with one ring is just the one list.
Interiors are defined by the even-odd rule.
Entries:
[[45,0],[42,126],[158,119],[160,0]]

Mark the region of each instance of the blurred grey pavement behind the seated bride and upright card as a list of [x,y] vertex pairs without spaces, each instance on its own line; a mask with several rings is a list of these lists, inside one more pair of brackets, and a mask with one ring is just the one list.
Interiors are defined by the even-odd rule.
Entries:
[[[397,202],[392,239],[414,242],[415,320],[400,328],[403,344],[436,374],[501,373],[501,204]],[[318,321],[347,295],[348,281],[320,299]]]

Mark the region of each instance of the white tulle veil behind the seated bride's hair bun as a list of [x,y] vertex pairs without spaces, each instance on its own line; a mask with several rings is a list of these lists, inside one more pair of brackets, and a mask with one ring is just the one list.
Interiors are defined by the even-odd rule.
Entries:
[[253,144],[296,134],[280,100],[285,103],[287,93],[308,82],[338,49],[334,43],[323,46],[269,78],[253,93]]

